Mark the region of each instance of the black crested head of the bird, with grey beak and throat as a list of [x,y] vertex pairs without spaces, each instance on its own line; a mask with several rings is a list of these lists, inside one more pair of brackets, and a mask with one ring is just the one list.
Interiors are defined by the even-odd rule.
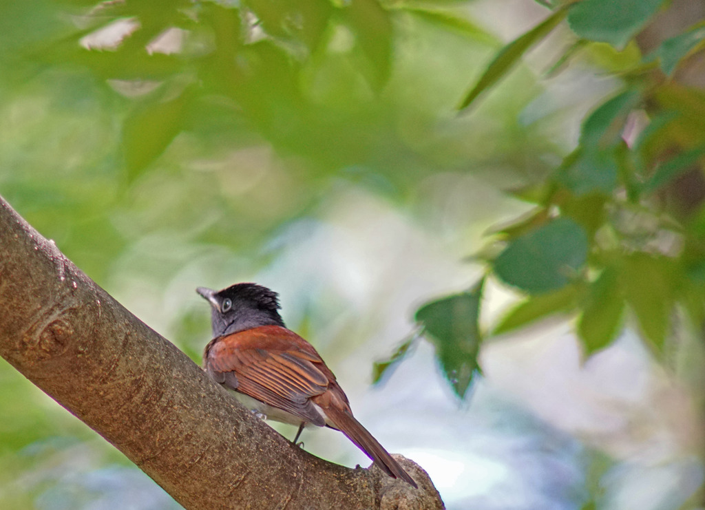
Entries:
[[215,291],[198,287],[211,304],[211,323],[214,337],[230,335],[238,331],[264,325],[284,326],[278,309],[277,294],[256,283],[237,283],[226,289]]

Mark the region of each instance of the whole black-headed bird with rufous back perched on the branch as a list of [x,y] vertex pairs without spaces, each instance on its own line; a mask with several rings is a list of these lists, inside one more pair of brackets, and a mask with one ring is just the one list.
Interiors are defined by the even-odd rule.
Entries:
[[258,416],[298,425],[294,444],[307,425],[340,430],[387,475],[417,488],[355,419],[348,397],[316,349],[286,328],[276,292],[256,283],[219,291],[198,287],[196,292],[211,305],[213,340],[204,349],[203,364],[215,382],[233,390]]

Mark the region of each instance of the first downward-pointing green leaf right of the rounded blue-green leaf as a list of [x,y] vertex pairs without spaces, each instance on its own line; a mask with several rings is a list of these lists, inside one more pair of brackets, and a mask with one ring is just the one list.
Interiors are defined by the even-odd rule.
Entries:
[[607,268],[590,285],[577,333],[585,354],[607,347],[620,332],[624,311],[624,296],[620,290],[618,271]]

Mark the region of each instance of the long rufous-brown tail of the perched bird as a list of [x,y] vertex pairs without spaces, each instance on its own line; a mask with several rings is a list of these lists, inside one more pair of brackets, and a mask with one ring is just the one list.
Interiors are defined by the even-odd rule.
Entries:
[[324,409],[326,416],[335,425],[335,428],[345,434],[348,439],[355,443],[370,459],[372,459],[382,471],[392,478],[401,478],[415,488],[418,488],[409,473],[404,471],[397,461],[374,439],[372,434],[355,419],[352,413],[346,409],[338,409],[336,406],[329,406]]

